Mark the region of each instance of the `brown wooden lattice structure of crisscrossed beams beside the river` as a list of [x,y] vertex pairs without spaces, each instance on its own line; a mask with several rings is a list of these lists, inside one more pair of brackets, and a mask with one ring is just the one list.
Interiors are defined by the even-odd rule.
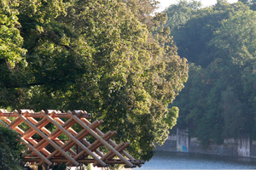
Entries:
[[[16,118],[10,121],[9,117]],[[38,121],[35,119],[36,117],[39,117]],[[93,163],[93,166],[97,167],[108,167],[113,164],[125,164],[125,167],[141,167],[144,161],[135,160],[125,151],[129,143],[115,144],[111,138],[116,132],[102,133],[97,128],[102,124],[102,120],[90,123],[88,121],[90,117],[90,113],[86,111],[62,113],[53,110],[40,112],[20,110],[8,112],[0,109],[0,118],[3,120],[0,119],[0,123],[6,122],[9,128],[20,133],[20,139],[32,152],[26,156],[28,162],[49,166],[54,162],[65,162],[67,166]],[[63,118],[68,120],[65,119],[67,121],[64,122]],[[24,131],[19,127],[21,122],[25,122],[30,128]],[[53,132],[45,127],[49,123],[56,127]],[[75,123],[79,123],[84,129],[77,133],[72,128]],[[36,133],[42,137],[41,140],[32,138]],[[69,139],[65,141],[58,139],[62,133]],[[85,139],[89,134],[95,138],[91,144]],[[55,148],[54,151],[50,152],[46,149],[49,144]],[[98,150],[102,145],[108,149],[108,153],[105,155]],[[79,150],[74,151],[74,146],[79,146]],[[91,158],[89,159],[88,156]],[[114,157],[117,158],[113,159]]]

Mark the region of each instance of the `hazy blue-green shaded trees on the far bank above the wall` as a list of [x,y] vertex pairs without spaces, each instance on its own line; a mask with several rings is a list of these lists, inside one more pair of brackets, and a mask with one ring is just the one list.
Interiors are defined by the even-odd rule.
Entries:
[[189,61],[188,82],[171,104],[177,127],[205,146],[256,139],[255,10],[255,0],[206,8],[182,0],[165,10],[177,53]]

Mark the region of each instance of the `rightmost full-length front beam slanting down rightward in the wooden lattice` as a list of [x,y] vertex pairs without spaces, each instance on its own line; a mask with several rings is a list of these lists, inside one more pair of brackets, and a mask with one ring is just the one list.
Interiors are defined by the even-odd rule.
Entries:
[[[105,140],[103,140],[99,135],[97,135],[93,130],[90,129],[90,127],[88,127],[87,125],[84,124],[84,122],[82,122],[77,116],[73,116],[71,111],[67,111],[67,114],[73,118],[73,120],[75,120],[76,122],[79,123],[79,125],[81,125],[82,127],[84,127],[86,130],[88,130],[90,132],[90,134],[92,134],[96,139],[99,139],[102,144],[104,144],[108,150],[113,151],[113,153],[118,156],[122,161],[125,161],[125,164],[129,167],[132,167],[132,164],[130,161],[126,160],[126,158],[124,156],[122,156],[117,150],[114,150],[113,147],[108,144]],[[102,160],[101,160],[102,161]]]

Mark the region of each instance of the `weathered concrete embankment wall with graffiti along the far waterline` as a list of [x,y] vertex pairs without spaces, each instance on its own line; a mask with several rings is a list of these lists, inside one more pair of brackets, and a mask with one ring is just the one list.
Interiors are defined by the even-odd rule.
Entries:
[[172,152],[188,152],[198,154],[256,157],[256,141],[249,138],[225,139],[224,144],[212,144],[204,149],[196,138],[189,138],[185,129],[178,129],[162,146],[157,145],[156,150]]

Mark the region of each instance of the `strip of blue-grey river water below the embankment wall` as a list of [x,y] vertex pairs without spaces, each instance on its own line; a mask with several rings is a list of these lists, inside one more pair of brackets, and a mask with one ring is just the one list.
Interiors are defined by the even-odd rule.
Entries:
[[157,151],[142,167],[133,168],[143,169],[256,169],[256,159]]

